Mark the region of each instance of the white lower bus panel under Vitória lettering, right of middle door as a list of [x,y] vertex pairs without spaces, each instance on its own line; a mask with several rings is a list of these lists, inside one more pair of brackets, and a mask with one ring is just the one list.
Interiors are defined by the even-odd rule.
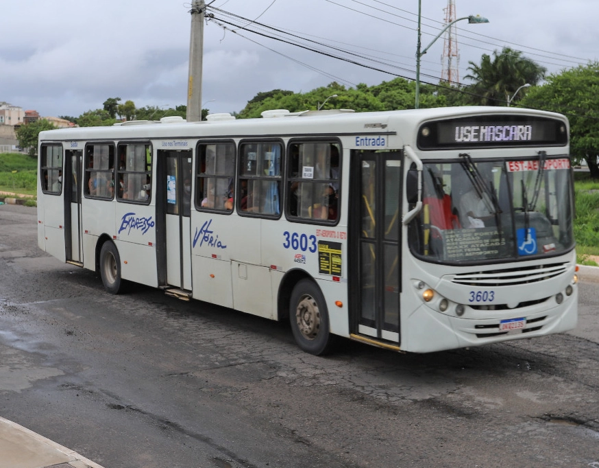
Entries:
[[193,299],[233,307],[229,261],[193,256]]

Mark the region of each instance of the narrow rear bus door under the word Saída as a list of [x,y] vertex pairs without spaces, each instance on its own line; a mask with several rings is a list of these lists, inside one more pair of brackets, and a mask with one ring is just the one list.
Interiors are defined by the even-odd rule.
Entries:
[[83,266],[81,194],[82,150],[66,150],[64,158],[64,245],[66,261]]

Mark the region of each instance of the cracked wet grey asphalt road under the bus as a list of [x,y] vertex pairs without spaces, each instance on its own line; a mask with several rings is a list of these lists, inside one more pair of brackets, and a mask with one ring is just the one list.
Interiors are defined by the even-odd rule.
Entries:
[[599,466],[591,272],[572,334],[317,358],[284,324],[106,294],[37,250],[35,214],[0,207],[0,416],[106,468]]

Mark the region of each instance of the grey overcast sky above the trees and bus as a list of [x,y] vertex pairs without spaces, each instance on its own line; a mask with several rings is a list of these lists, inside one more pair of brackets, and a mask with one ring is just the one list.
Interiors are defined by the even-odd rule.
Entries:
[[[202,102],[210,113],[239,112],[256,93],[271,89],[306,92],[334,80],[353,87],[389,81],[395,75],[415,78],[417,0],[206,3],[215,15],[204,28]],[[421,3],[424,49],[439,34],[448,1]],[[455,4],[456,18],[480,14],[490,21],[457,23],[461,82],[467,82],[469,61],[479,63],[482,54],[504,46],[522,50],[550,73],[598,59],[597,0],[455,0]],[[0,102],[38,110],[42,116],[74,117],[102,108],[108,97],[132,100],[137,107],[186,104],[190,7],[191,1],[180,0],[0,0]],[[352,60],[383,71],[222,22],[245,26],[248,22],[243,19],[350,50],[360,56]],[[250,27],[274,34],[257,23]],[[422,58],[423,82],[438,82],[442,54],[443,36]]]

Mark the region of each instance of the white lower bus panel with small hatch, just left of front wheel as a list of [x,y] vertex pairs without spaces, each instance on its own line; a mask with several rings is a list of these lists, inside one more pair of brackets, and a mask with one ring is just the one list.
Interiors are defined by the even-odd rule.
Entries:
[[[276,319],[270,269],[265,266],[231,262],[234,309]],[[274,294],[276,296],[276,294]]]

